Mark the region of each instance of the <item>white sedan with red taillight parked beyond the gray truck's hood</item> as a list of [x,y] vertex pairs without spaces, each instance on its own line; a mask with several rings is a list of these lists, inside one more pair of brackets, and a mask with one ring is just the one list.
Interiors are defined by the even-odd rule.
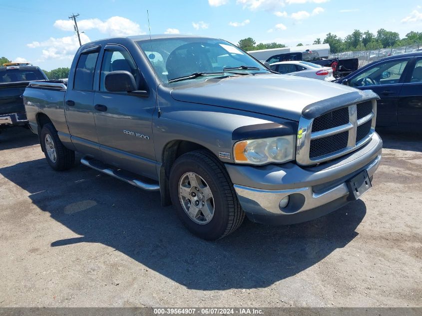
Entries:
[[282,61],[270,64],[270,68],[282,74],[334,81],[333,68],[323,67],[308,61]]

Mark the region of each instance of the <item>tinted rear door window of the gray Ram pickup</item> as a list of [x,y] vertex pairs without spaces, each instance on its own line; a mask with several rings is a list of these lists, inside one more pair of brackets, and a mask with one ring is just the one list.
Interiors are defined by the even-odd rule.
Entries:
[[73,89],[91,91],[94,84],[94,71],[98,51],[82,53],[76,65]]

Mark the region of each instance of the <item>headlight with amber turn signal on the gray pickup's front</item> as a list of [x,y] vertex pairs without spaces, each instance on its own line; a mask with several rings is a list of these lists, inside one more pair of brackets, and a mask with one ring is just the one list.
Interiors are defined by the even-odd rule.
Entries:
[[241,140],[234,144],[234,161],[253,165],[295,159],[296,135]]

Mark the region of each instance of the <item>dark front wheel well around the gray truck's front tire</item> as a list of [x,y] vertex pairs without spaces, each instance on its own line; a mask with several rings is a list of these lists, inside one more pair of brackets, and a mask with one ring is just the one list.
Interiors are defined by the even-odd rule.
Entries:
[[169,142],[163,150],[162,154],[162,166],[160,170],[160,193],[161,193],[161,205],[171,205],[170,191],[168,188],[168,182],[170,178],[170,170],[174,162],[181,155],[193,151],[203,149],[209,151],[202,145],[186,140],[174,140]]

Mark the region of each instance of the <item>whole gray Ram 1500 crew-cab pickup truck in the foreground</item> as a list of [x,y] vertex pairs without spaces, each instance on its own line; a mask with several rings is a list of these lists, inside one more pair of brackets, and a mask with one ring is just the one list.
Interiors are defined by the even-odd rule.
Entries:
[[371,188],[381,159],[372,91],[273,73],[231,43],[188,35],[82,45],[68,82],[24,91],[48,164],[81,163],[160,191],[194,234],[294,224]]

